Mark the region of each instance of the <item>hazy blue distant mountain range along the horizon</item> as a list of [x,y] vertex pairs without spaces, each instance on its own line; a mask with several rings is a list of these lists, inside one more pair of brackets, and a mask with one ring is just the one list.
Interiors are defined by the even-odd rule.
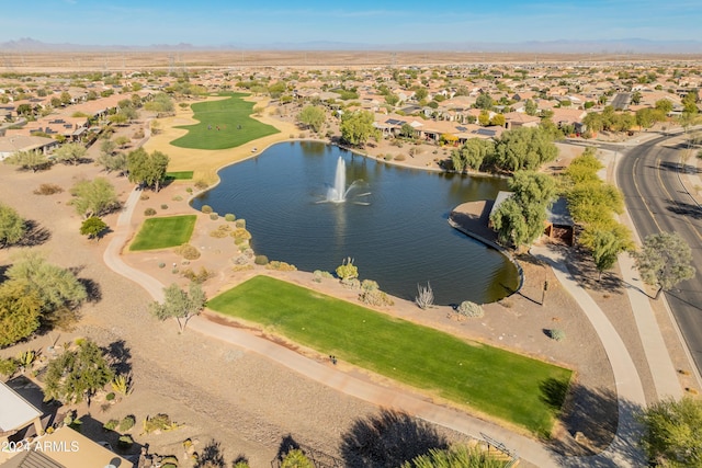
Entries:
[[367,50],[367,52],[473,52],[528,54],[702,54],[700,41],[529,41],[523,43],[401,43],[364,44],[341,42],[270,44],[152,44],[148,46],[48,44],[30,37],[0,43],[2,52],[127,52],[127,50]]

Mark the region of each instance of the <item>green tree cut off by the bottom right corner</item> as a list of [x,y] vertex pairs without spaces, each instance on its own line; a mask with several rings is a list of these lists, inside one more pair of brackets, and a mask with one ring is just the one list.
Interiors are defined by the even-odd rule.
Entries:
[[645,427],[641,444],[656,466],[702,466],[702,401],[688,396],[661,400],[638,419]]

